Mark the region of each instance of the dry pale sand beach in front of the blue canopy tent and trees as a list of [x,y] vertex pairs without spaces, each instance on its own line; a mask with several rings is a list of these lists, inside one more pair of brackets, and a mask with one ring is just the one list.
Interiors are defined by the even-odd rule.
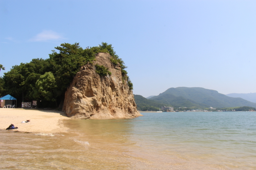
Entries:
[[[66,132],[61,123],[64,119],[70,119],[62,111],[0,108],[0,129],[5,130],[11,124],[20,132],[57,133]],[[28,123],[22,121],[30,120]]]

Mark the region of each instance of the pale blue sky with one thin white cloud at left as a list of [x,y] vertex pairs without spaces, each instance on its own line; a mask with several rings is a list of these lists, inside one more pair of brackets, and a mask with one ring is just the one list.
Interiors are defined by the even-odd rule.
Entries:
[[112,44],[144,97],[256,92],[255,0],[0,0],[0,76],[64,42]]

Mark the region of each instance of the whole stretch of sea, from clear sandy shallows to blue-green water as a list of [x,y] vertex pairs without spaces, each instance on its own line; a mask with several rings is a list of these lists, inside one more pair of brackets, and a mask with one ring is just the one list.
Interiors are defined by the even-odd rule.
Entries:
[[256,169],[256,112],[66,120],[67,133],[0,131],[0,169]]

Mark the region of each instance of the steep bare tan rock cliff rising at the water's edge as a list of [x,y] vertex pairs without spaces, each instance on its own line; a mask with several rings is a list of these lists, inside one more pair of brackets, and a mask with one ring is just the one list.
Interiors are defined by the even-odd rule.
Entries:
[[[114,119],[141,116],[129,86],[122,81],[121,66],[110,62],[108,53],[96,55],[96,61],[81,67],[65,93],[62,110],[76,119]],[[100,76],[95,65],[112,73]]]

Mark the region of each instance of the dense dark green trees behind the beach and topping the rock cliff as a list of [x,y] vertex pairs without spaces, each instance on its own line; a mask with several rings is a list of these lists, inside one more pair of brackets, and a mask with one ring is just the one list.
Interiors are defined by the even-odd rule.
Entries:
[[[113,64],[119,63],[122,73],[127,74],[123,60],[116,55],[111,44],[102,42],[98,47],[83,49],[79,43],[63,43],[55,49],[59,52],[52,50],[52,54],[45,60],[37,58],[29,63],[12,66],[0,78],[0,96],[12,95],[18,100],[18,107],[22,101],[31,100],[40,100],[39,107],[55,107],[63,102],[65,91],[80,67],[88,62],[92,63],[95,55],[100,52],[109,53],[111,60],[115,62]],[[101,66],[97,70],[99,74],[111,74],[108,68]],[[123,74],[124,78],[127,77],[126,74]]]

